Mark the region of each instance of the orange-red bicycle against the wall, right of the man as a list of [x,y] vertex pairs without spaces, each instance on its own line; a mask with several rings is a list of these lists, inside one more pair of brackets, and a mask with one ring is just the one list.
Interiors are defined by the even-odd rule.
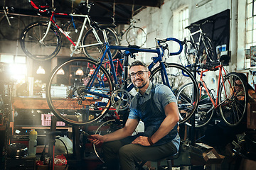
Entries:
[[[220,57],[221,60],[222,57]],[[231,127],[238,125],[245,115],[248,100],[247,86],[238,73],[228,73],[223,67],[222,62],[194,64],[191,66],[201,69],[201,71],[198,71],[200,73],[198,81],[200,100],[195,116],[196,128],[206,126],[213,118],[214,111],[219,111],[224,123]],[[217,70],[219,71],[218,89],[216,96],[213,96],[211,90],[206,86],[206,82],[203,81],[203,76],[206,72]],[[186,84],[182,86],[180,91],[178,91],[177,98],[183,91],[189,90],[192,85]],[[183,102],[184,104],[188,102],[189,105],[189,98],[187,100]],[[180,112],[186,114],[186,110]],[[181,115],[181,117],[184,117],[184,115]],[[186,124],[191,125],[189,123]]]

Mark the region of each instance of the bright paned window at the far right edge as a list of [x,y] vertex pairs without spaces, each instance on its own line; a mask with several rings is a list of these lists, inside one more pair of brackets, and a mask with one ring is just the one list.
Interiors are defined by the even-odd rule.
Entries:
[[[245,54],[248,56],[250,47],[256,45],[256,1],[247,0],[246,6],[246,36],[245,36]],[[254,67],[253,60],[245,57],[245,68]]]

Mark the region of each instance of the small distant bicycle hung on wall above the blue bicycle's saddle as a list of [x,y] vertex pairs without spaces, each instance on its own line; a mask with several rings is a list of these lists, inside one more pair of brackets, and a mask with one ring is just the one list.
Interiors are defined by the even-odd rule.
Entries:
[[[139,21],[139,19],[138,19]],[[146,43],[146,33],[145,31],[134,25],[137,21],[135,19],[130,19],[130,24],[127,29],[122,30],[118,35],[119,40],[123,39],[125,35],[125,40],[127,41],[128,45],[137,45],[142,47]]]

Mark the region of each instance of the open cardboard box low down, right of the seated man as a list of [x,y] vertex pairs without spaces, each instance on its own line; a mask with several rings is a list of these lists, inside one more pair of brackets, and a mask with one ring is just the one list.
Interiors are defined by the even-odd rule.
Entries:
[[203,143],[196,143],[196,147],[190,146],[189,154],[192,165],[221,164],[225,158],[213,147]]

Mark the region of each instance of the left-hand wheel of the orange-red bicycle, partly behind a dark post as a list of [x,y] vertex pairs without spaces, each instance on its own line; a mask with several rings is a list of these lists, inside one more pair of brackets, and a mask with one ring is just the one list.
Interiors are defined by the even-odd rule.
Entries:
[[[177,98],[182,98],[184,100],[184,103],[190,101],[193,96],[190,96],[189,100],[187,100],[187,98],[180,97],[182,94],[188,94],[188,91],[193,91],[192,83],[182,86],[178,91]],[[211,98],[213,98],[213,94],[210,92],[209,89],[208,92]],[[211,118],[213,118],[213,113],[213,103],[210,101],[210,97],[208,96],[206,90],[202,89],[201,98],[199,100],[198,108],[195,113],[195,128],[202,128],[206,126],[210,122]],[[180,118],[181,120],[183,120],[184,118],[186,118],[186,115],[180,113]],[[186,125],[191,126],[190,123],[186,123]]]

